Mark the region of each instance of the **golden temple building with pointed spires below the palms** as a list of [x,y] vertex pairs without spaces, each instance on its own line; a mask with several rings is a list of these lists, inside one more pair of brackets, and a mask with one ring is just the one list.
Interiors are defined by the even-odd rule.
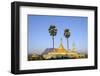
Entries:
[[75,48],[75,43],[72,45],[72,49],[66,50],[63,47],[62,39],[60,40],[59,48],[47,48],[42,54],[44,59],[68,57],[68,58],[78,58],[78,53]]

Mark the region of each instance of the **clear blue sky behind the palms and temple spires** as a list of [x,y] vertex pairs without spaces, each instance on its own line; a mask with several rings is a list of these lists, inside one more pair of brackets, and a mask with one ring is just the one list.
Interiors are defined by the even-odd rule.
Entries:
[[67,49],[67,41],[64,37],[64,29],[71,32],[69,48],[75,42],[77,51],[86,52],[88,48],[88,18],[78,16],[47,16],[28,15],[28,53],[41,54],[46,48],[52,48],[52,38],[48,32],[50,25],[55,25],[55,48],[59,47],[60,39]]

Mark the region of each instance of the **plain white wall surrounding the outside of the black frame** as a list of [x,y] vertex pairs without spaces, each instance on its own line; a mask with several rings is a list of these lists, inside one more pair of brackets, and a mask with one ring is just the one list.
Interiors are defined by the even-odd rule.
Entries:
[[[10,73],[10,56],[11,56],[11,6],[10,3],[14,0],[1,0],[0,1],[0,76],[13,76]],[[17,1],[17,0],[16,0]],[[100,0],[21,0],[30,2],[44,2],[44,3],[58,3],[58,4],[74,4],[74,5],[90,5],[98,6],[98,13],[100,13]],[[100,14],[98,15],[98,29],[100,29]],[[100,32],[100,30],[98,31]],[[100,35],[98,36],[100,42]],[[100,43],[98,43],[100,45]],[[98,48],[98,50],[100,50]],[[98,51],[100,58],[100,52]],[[100,59],[99,67],[100,67]],[[84,71],[68,71],[56,73],[40,73],[34,76],[99,76],[100,68],[98,70],[84,70]],[[32,76],[33,74],[26,74]],[[23,76],[23,75],[22,75]]]

